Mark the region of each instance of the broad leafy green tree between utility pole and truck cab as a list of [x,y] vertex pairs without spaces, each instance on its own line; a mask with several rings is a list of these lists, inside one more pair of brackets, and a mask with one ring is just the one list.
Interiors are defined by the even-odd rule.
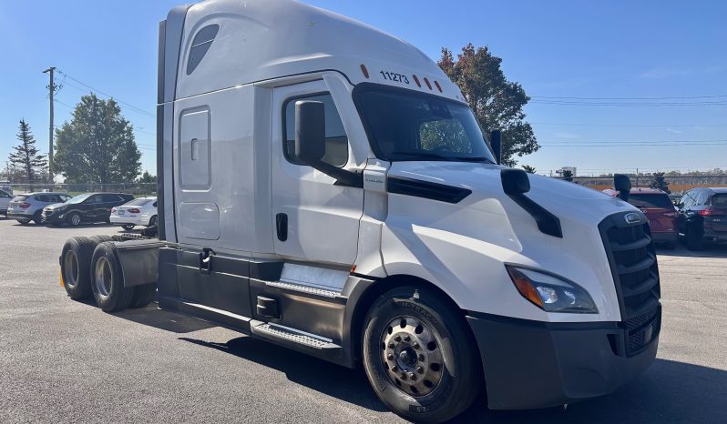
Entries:
[[140,159],[133,127],[114,99],[81,97],[71,121],[56,129],[53,164],[69,183],[134,181]]

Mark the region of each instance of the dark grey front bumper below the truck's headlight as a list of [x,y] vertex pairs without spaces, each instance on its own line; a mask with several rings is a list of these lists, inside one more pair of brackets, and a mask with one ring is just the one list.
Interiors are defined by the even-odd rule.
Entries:
[[606,395],[656,357],[660,309],[650,341],[627,356],[621,323],[544,323],[473,313],[490,409],[535,409]]

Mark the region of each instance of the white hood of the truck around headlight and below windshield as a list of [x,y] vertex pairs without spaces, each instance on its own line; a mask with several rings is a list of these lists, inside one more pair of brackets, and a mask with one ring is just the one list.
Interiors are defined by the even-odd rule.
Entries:
[[[453,289],[448,293],[463,308],[510,316],[513,310],[521,310],[513,305],[523,299],[517,298],[504,264],[543,269],[586,288],[599,314],[569,317],[571,314],[546,314],[538,308],[525,308],[527,318],[619,320],[618,302],[613,301],[617,294],[599,224],[610,215],[631,211],[640,214],[639,210],[619,198],[578,184],[531,175],[526,196],[560,221],[563,237],[549,236],[505,194],[500,178],[504,168],[464,162],[394,162],[387,174],[390,183],[392,178],[400,177],[462,187],[472,193],[456,203],[418,197],[416,193],[390,193],[382,247],[387,273],[412,273],[425,268],[417,277],[466,282],[461,292]],[[402,255],[404,251],[413,253]],[[506,283],[497,283],[501,281]]]

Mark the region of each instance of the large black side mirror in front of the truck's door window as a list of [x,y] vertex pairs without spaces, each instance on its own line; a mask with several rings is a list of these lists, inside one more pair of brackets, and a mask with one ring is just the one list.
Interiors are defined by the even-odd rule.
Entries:
[[295,157],[315,165],[325,155],[325,110],[323,102],[295,102]]

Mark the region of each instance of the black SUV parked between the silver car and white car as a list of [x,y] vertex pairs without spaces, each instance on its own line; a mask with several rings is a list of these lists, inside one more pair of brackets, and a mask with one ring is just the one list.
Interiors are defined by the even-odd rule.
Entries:
[[111,209],[134,197],[124,193],[86,193],[43,209],[43,222],[60,225],[64,222],[77,227],[87,222],[110,222]]

